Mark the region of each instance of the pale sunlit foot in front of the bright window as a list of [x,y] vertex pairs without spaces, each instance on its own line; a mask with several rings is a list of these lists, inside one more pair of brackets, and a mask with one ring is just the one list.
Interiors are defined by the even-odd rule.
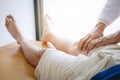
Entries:
[[54,26],[53,21],[51,20],[49,15],[46,15],[44,17],[44,28],[43,28],[42,38],[41,38],[41,41],[43,43],[47,43],[51,38],[51,36],[53,35],[53,30],[51,30],[51,27],[53,26]]

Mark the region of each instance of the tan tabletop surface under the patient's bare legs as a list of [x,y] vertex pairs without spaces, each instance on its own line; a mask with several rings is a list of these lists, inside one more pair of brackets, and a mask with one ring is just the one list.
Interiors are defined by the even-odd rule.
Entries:
[[[40,41],[31,42],[44,48],[52,47]],[[34,70],[25,60],[23,51],[16,42],[0,47],[0,80],[37,80]]]

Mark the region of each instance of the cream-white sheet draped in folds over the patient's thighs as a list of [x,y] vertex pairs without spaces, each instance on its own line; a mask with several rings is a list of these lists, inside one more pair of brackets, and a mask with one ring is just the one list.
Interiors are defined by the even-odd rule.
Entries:
[[120,46],[94,49],[88,56],[47,50],[35,70],[38,80],[90,80],[96,73],[120,63]]

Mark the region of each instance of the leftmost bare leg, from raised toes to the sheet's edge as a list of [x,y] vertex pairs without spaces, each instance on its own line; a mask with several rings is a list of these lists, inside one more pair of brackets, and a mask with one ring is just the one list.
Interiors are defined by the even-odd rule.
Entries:
[[31,65],[36,67],[45,49],[41,49],[40,47],[35,46],[22,37],[22,34],[20,33],[13,16],[6,16],[5,25],[9,33],[21,45],[26,60]]

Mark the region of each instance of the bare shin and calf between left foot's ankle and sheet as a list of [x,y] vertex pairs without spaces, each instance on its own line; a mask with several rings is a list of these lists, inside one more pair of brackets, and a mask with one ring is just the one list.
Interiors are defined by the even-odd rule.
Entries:
[[34,67],[36,67],[46,49],[42,49],[27,40],[22,41],[20,45],[22,46],[26,60]]

